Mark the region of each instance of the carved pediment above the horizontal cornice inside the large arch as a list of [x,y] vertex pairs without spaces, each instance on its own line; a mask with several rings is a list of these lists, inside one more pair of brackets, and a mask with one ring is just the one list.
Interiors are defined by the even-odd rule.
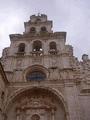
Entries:
[[17,106],[19,109],[51,109],[55,105],[51,101],[46,101],[43,98],[26,98]]

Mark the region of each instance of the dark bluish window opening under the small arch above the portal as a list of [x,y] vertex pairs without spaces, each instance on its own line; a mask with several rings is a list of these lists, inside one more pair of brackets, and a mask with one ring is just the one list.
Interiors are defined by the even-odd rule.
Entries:
[[28,81],[30,80],[45,80],[46,78],[46,74],[43,73],[42,71],[32,71],[32,72],[29,72],[26,76],[26,79]]

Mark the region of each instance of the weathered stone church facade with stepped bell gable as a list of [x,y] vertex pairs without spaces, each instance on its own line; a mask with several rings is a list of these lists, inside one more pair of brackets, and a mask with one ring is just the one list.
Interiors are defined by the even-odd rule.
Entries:
[[9,83],[0,77],[2,120],[90,120],[90,59],[79,61],[66,32],[52,25],[46,15],[32,15],[23,34],[10,35],[1,58]]

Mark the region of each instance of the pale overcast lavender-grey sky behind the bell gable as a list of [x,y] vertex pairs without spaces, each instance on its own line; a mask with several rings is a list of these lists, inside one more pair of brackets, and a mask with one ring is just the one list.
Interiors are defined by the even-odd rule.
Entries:
[[74,56],[90,57],[90,0],[0,0],[0,56],[10,46],[9,34],[22,34],[24,22],[38,13],[53,20],[54,32],[67,32]]

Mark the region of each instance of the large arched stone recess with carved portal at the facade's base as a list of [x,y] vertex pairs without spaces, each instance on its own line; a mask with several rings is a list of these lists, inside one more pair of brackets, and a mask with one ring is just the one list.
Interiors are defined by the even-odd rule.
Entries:
[[34,87],[12,99],[7,120],[68,120],[60,98],[48,89]]

